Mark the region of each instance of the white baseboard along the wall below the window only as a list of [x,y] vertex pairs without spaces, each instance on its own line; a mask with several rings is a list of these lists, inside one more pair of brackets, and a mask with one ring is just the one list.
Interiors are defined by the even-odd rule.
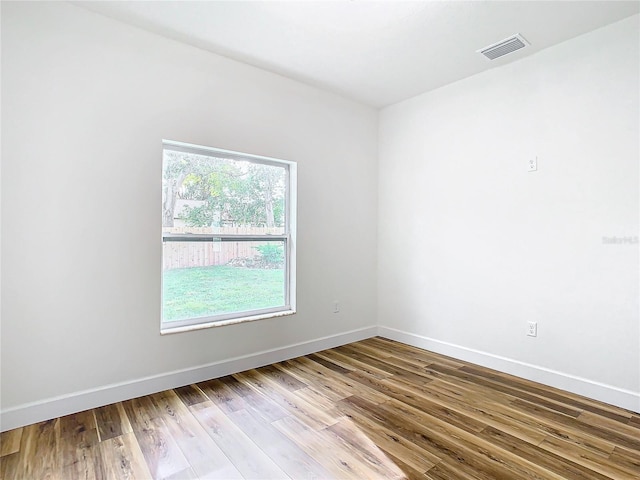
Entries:
[[176,370],[129,382],[106,385],[91,390],[84,390],[69,395],[8,408],[0,412],[0,431],[4,432],[13,428],[81,412],[90,408],[109,405],[130,398],[149,395],[183,385],[270,365],[327,348],[364,340],[376,334],[377,327],[375,326],[361,328],[194,368]]

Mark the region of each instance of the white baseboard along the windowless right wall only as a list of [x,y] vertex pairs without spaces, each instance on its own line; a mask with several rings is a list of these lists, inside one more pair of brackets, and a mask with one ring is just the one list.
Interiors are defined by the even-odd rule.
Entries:
[[594,382],[586,378],[576,377],[567,373],[462,347],[441,340],[396,330],[395,328],[378,326],[378,335],[640,413],[640,393],[638,392]]

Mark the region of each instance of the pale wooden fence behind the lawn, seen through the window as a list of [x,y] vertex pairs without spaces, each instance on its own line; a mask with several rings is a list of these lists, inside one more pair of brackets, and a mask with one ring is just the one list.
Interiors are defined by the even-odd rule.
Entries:
[[[163,227],[163,233],[209,233],[254,235],[279,234],[280,229],[260,227]],[[255,259],[260,256],[256,249],[265,242],[163,242],[163,270],[189,267],[226,265],[235,259]]]

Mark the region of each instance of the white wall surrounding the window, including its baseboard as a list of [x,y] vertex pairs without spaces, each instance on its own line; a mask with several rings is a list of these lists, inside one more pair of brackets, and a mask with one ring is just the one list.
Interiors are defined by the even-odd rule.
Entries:
[[[162,139],[298,162],[298,314],[160,335]],[[375,332],[373,109],[77,6],[2,2],[2,160],[3,429]]]

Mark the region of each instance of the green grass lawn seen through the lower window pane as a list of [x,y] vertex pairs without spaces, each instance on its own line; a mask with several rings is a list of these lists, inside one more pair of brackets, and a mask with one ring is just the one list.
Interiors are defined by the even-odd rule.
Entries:
[[165,322],[284,305],[284,270],[214,267],[163,273]]

